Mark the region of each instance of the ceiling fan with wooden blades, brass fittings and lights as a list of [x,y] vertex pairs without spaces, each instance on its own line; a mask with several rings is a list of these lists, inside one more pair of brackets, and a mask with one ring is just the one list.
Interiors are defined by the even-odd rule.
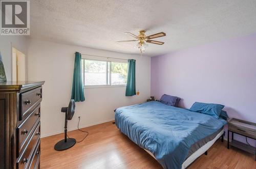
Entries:
[[133,41],[139,41],[139,42],[135,45],[135,48],[136,48],[136,49],[139,49],[141,54],[145,52],[145,47],[148,46],[148,44],[146,44],[146,42],[147,42],[147,43],[153,43],[153,44],[156,44],[156,45],[162,45],[162,44],[164,44],[164,42],[151,40],[151,39],[159,38],[159,37],[162,37],[162,36],[166,36],[166,34],[165,34],[164,32],[160,32],[160,33],[157,33],[157,34],[154,34],[154,35],[150,35],[150,36],[146,36],[145,33],[146,33],[145,30],[141,30],[141,31],[139,31],[139,35],[137,36],[137,35],[134,35],[134,34],[132,34],[132,33],[130,33],[130,32],[125,32],[125,34],[134,37],[136,40],[117,41],[117,42],[133,42]]

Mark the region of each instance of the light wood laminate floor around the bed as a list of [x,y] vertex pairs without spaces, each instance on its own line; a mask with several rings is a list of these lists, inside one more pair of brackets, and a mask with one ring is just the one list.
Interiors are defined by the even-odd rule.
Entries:
[[[63,134],[41,139],[40,168],[162,168],[143,149],[123,135],[111,122],[83,128],[89,136],[66,151],[55,151],[54,145]],[[81,140],[84,133],[68,132],[70,137]],[[253,154],[237,148],[226,148],[219,140],[188,168],[256,168]]]

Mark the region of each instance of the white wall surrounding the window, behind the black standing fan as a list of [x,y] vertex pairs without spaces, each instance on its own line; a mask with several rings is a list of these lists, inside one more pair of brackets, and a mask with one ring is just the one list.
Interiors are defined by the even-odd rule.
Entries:
[[28,79],[45,80],[41,102],[41,136],[63,132],[65,116],[61,107],[68,106],[71,97],[74,52],[122,59],[136,59],[136,90],[139,96],[125,97],[125,87],[90,88],[84,90],[86,101],[76,103],[69,130],[114,120],[114,109],[145,102],[150,97],[151,59],[79,46],[63,45],[31,39],[28,48]]

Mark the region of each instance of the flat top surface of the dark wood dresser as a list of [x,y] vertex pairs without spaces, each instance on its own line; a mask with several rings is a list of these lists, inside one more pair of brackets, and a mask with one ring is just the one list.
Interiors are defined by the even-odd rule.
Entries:
[[27,89],[35,86],[42,86],[44,85],[45,81],[5,81],[0,82],[0,91],[5,90],[22,90]]

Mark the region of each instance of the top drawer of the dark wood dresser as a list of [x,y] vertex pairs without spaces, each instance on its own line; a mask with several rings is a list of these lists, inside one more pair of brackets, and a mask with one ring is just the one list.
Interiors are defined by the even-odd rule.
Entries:
[[36,88],[28,92],[20,94],[20,116],[19,120],[23,120],[33,110],[32,107],[41,101],[42,88]]

